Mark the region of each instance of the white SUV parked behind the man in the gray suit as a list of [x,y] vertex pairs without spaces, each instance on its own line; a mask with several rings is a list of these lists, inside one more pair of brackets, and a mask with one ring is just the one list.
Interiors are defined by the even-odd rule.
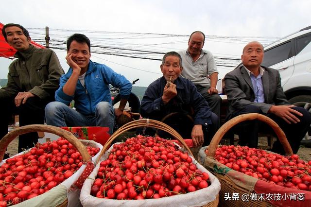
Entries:
[[311,113],[311,26],[264,47],[261,65],[277,69],[289,102]]

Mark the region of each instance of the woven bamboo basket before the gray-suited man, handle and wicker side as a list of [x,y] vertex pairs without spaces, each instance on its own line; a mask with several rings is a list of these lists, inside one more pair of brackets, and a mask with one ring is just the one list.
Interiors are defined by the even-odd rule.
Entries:
[[[215,151],[218,147],[218,144],[220,140],[223,138],[225,133],[231,129],[234,125],[242,122],[242,121],[248,121],[248,120],[259,120],[267,123],[276,133],[277,138],[280,140],[286,155],[293,155],[293,150],[284,134],[282,129],[277,125],[275,121],[268,118],[267,116],[257,114],[257,113],[250,113],[250,114],[243,114],[240,116],[237,116],[229,121],[227,121],[222,127],[216,132],[214,137],[212,138],[207,151],[207,156],[209,157],[215,157]],[[205,167],[209,168],[209,166],[204,165]],[[215,173],[212,169],[210,169],[210,172],[213,173],[220,181],[221,183],[221,191],[220,191],[220,206],[221,207],[271,207],[272,204],[270,204],[268,201],[265,200],[257,200],[257,201],[248,201],[243,202],[242,199],[238,201],[232,201],[232,200],[226,200],[225,201],[225,193],[239,193],[239,195],[242,195],[244,193],[250,194],[255,193],[251,190],[251,188],[242,188],[241,186],[238,186],[235,182],[233,182],[227,175],[222,175],[220,173]],[[236,172],[236,171],[235,171]],[[240,173],[240,172],[236,172]],[[243,173],[242,173],[243,174]],[[244,175],[244,174],[243,174]],[[248,175],[247,175],[248,176]]]

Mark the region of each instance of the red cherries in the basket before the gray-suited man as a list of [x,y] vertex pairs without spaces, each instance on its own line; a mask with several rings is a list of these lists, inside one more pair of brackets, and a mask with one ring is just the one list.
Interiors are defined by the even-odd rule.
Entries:
[[223,145],[215,158],[235,171],[293,189],[311,190],[311,161],[298,155],[283,156],[265,150]]

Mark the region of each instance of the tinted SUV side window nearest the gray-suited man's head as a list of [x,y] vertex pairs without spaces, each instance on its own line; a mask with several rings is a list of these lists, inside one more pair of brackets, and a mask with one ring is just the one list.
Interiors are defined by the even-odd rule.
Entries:
[[286,42],[264,52],[262,66],[270,67],[293,57],[292,42]]

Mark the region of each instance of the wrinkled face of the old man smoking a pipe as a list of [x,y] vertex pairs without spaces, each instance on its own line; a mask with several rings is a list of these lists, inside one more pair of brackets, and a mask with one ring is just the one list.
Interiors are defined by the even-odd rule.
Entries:
[[166,80],[170,80],[172,76],[172,82],[178,78],[183,70],[179,65],[179,57],[177,56],[167,56],[164,65],[161,65],[160,68]]

